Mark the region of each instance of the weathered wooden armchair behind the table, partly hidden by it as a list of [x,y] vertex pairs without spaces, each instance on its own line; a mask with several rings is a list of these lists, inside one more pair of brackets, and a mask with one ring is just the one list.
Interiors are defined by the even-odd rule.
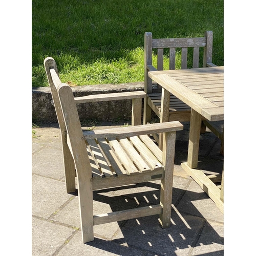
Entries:
[[[148,71],[163,70],[164,49],[169,49],[169,70],[176,67],[176,49],[181,49],[181,69],[187,69],[188,48],[193,48],[193,68],[200,68],[200,48],[203,48],[203,67],[214,67],[212,61],[212,31],[206,31],[204,37],[197,38],[164,38],[153,39],[151,32],[144,35],[144,88],[147,94],[144,102],[143,123],[151,122],[151,110],[160,118],[160,122],[167,121],[190,121],[190,107],[170,94],[169,116],[164,120],[161,110],[162,92],[158,85],[153,86],[152,79],[148,77]],[[157,67],[153,66],[153,49],[157,49]],[[159,90],[160,89],[160,90]],[[205,126],[202,123],[202,132]],[[154,138],[162,147],[161,134],[154,135]]]

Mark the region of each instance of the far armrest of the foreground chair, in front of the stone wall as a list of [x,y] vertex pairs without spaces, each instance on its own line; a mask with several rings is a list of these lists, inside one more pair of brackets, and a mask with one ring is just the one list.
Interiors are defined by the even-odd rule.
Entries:
[[111,101],[121,99],[138,99],[145,98],[146,93],[143,91],[135,92],[124,92],[124,93],[106,93],[106,94],[95,94],[82,97],[76,97],[76,103],[88,103],[88,102],[100,102],[100,101]]

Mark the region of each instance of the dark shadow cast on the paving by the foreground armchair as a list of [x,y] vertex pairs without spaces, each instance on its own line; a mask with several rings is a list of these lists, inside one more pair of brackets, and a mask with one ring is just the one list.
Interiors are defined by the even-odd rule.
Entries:
[[[125,210],[158,204],[159,189],[160,183],[146,182],[94,191],[93,198],[94,202],[110,206],[111,211]],[[215,217],[213,217],[212,223],[211,220],[208,221],[208,218],[205,219],[193,204],[193,201],[197,200],[210,199],[204,192],[195,193],[174,187],[171,227],[162,229],[157,215],[119,221],[117,222],[118,227],[106,231],[106,234],[104,225],[108,224],[102,224],[98,229],[97,226],[94,226],[95,240],[89,242],[88,245],[117,255],[130,255],[131,251],[125,252],[127,247],[139,248],[157,255],[179,255],[179,251],[188,253],[193,248],[200,250],[201,247],[214,244],[219,244],[222,248],[224,239],[212,227],[212,223],[214,226],[217,223],[218,229],[218,222],[214,221]],[[212,206],[212,204],[210,205]],[[209,205],[206,204],[206,207],[210,211]],[[96,209],[96,214],[98,214],[98,210],[100,209]],[[214,214],[214,212],[212,213]],[[113,246],[113,242],[115,246]],[[183,252],[183,250],[185,251]],[[215,254],[212,255],[222,255],[223,253],[222,249],[216,251],[216,246],[214,251]]]

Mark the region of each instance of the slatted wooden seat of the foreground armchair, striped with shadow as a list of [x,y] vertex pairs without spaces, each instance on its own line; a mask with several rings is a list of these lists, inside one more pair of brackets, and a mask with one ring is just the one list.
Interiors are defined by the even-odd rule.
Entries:
[[127,185],[131,183],[127,176],[137,181],[142,178],[135,177],[138,175],[152,180],[164,175],[162,152],[147,135],[129,139],[84,137],[92,166],[93,190],[116,186],[112,179],[121,178],[118,182]]

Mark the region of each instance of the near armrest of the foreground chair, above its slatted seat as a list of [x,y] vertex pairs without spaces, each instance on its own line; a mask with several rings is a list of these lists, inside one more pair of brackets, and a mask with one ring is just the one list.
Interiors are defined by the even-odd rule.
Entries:
[[95,130],[83,132],[83,136],[84,139],[95,139],[105,137],[115,137],[121,139],[145,134],[175,132],[181,130],[183,130],[183,125],[179,121],[173,121],[128,127],[118,127],[104,130]]

